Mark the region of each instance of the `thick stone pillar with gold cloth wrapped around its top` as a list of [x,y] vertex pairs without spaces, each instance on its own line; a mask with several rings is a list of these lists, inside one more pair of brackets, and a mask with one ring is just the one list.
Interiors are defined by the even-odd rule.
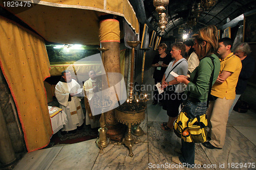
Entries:
[[[104,16],[100,21],[99,39],[101,48],[109,49],[104,52],[102,58],[106,74],[108,72],[120,72],[120,29],[119,21],[113,18],[113,15]],[[109,18],[108,18],[109,17]],[[115,119],[114,110],[104,113],[106,127],[108,128],[107,136],[112,140],[120,141],[123,135],[123,126]],[[121,126],[121,127],[120,127]]]

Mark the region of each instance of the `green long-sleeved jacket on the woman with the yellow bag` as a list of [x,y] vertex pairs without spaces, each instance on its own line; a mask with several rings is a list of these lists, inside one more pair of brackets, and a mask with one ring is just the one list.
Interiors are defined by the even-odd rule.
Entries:
[[[215,55],[211,55],[214,57],[214,64],[215,64],[215,70],[214,70],[214,80],[212,81],[212,85],[216,82],[219,73],[220,73],[220,59]],[[190,82],[187,85],[187,91],[190,91],[189,98],[195,98],[199,99],[200,102],[207,101],[208,97],[208,89],[209,89],[209,82],[210,82],[210,75],[212,72],[212,69],[214,69],[210,57],[204,57],[201,59],[199,65],[196,67],[196,69],[191,72],[190,74]],[[194,84],[194,79],[197,73],[197,81]],[[211,86],[212,86],[211,85]]]

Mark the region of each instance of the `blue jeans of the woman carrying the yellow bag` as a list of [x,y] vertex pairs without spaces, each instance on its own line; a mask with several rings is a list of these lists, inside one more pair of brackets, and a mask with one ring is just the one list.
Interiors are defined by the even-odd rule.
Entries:
[[[182,108],[183,112],[187,113],[188,118],[194,118],[197,115],[205,114],[207,110],[207,102],[193,103],[187,101]],[[185,142],[181,139],[181,152],[182,155],[179,157],[182,163],[195,164],[195,143]]]

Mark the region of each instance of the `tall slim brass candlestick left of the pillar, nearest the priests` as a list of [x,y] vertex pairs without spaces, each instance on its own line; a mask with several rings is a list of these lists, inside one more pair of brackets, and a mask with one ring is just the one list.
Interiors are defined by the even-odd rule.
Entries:
[[[103,59],[104,56],[104,52],[108,51],[109,49],[106,49],[104,47],[102,48],[97,48],[99,51],[101,51],[101,58]],[[103,74],[103,68],[101,67],[101,74]],[[102,76],[102,101],[103,101],[103,87],[104,87],[104,76]],[[101,108],[101,116],[99,119],[99,123],[100,123],[100,128],[98,129],[99,132],[99,137],[96,140],[96,144],[99,147],[99,153],[103,153],[103,148],[108,147],[108,145],[110,144],[110,139],[108,137],[106,137],[106,132],[108,131],[108,128],[106,128],[106,119],[104,116],[104,110],[105,108]]]

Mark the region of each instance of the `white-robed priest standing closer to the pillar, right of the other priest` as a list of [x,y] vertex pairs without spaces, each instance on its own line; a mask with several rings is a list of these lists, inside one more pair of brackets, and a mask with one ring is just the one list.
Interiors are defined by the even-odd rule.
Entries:
[[[102,82],[96,78],[96,73],[94,70],[89,71],[89,77],[86,82],[83,84],[83,89],[86,94],[84,98],[84,105],[86,106],[86,125],[91,125],[91,128],[100,127],[99,118],[100,114],[93,116],[89,101],[93,100],[94,93],[99,91],[99,88],[102,87]],[[92,108],[93,109],[93,108]]]

